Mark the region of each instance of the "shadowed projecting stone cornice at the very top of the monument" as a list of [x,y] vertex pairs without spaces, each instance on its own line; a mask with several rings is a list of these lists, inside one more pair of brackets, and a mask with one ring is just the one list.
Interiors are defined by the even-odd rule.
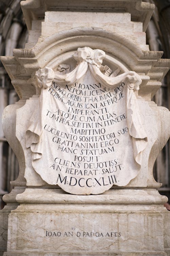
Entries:
[[32,20],[44,19],[46,11],[90,11],[130,13],[132,21],[142,22],[143,31],[146,31],[155,5],[142,0],[26,0],[21,1],[21,8],[28,29],[31,29]]

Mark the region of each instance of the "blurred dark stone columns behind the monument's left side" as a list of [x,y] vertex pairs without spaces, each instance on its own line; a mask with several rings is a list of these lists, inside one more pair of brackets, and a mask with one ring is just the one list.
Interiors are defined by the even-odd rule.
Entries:
[[[0,1],[0,55],[13,56],[14,48],[24,48],[28,41],[28,30],[21,11],[20,0]],[[0,116],[5,106],[18,101],[11,80],[0,62]],[[2,131],[0,118],[0,205],[2,196],[11,191],[10,181],[16,180],[19,173],[18,160],[8,146]]]

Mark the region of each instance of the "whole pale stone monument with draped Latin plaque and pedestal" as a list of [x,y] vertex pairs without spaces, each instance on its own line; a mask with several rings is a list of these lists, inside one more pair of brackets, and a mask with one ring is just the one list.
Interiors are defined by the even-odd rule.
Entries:
[[153,4],[21,6],[29,41],[1,57],[20,97],[3,113],[20,172],[3,197],[1,255],[170,255],[152,173],[170,133],[151,101],[169,69],[146,45]]

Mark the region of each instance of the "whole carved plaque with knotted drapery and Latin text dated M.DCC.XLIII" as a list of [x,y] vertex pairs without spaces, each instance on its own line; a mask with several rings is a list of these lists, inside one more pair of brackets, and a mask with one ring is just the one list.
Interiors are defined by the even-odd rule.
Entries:
[[104,74],[101,50],[79,48],[74,58],[78,65],[70,73],[36,73],[42,89],[26,142],[34,170],[48,184],[100,194],[127,185],[140,169],[147,141],[133,91],[140,78]]

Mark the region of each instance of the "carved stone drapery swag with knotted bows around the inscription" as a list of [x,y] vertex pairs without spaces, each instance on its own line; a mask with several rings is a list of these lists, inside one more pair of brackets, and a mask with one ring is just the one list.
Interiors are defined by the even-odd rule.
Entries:
[[[117,75],[115,77],[107,76],[101,72],[102,61],[105,57],[105,52],[99,49],[92,50],[89,47],[78,48],[77,52],[73,55],[73,58],[77,60],[77,66],[70,73],[61,75],[57,72],[54,72],[51,68],[45,67],[44,69],[39,69],[35,76],[37,85],[40,88],[47,88],[51,85],[52,81],[58,84],[68,84],[71,85],[78,81],[87,71],[88,67],[91,71],[91,74],[95,79],[100,82],[103,86],[109,88],[116,88],[120,83],[124,82],[127,85],[127,94],[126,94],[126,115],[127,115],[127,125],[129,128],[129,133],[132,136],[133,149],[134,149],[134,158],[136,162],[141,165],[141,153],[147,145],[147,134],[143,129],[139,108],[137,104],[137,99],[134,91],[139,90],[139,85],[141,84],[140,76],[134,71],[124,72],[123,74]],[[43,90],[42,90],[43,91]],[[43,94],[41,91],[43,102]],[[43,103],[41,103],[43,104]],[[42,120],[41,120],[42,122]],[[41,122],[38,126],[41,126]],[[42,126],[43,127],[43,126]],[[30,127],[28,130],[33,131],[34,134],[38,134],[40,127],[37,127],[33,131],[33,127]],[[43,132],[42,132],[43,133]],[[39,134],[40,135],[40,134]],[[39,136],[40,137],[40,136]],[[43,137],[39,138],[42,140]],[[36,142],[35,142],[36,141]],[[34,139],[34,143],[38,142],[38,138]],[[27,147],[30,146],[31,142],[28,142]],[[39,146],[41,143],[38,143]],[[38,146],[38,145],[37,145]],[[36,153],[37,149],[31,148],[32,152]],[[40,158],[41,149],[38,149],[39,156],[34,156],[34,159]]]

